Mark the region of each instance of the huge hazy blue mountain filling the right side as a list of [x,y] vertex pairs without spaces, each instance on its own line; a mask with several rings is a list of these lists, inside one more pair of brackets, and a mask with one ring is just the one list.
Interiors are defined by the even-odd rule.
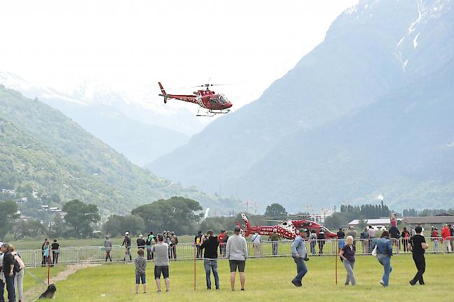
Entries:
[[[389,192],[392,200],[386,196],[387,202],[399,208],[427,203],[427,198],[437,204],[451,200],[447,187],[450,176],[433,178],[437,170],[430,171],[429,158],[418,157],[413,149],[399,149],[399,155],[407,165],[415,165],[416,158],[422,163],[405,171],[391,169],[381,181],[375,179],[378,163],[399,166],[401,158],[390,155],[406,136],[397,131],[403,125],[395,120],[386,120],[394,132],[372,131],[371,124],[380,116],[369,115],[369,110],[383,106],[375,109],[381,114],[397,110],[398,115],[402,113],[399,108],[379,104],[398,96],[404,106],[414,100],[412,91],[428,98],[418,99],[420,102],[430,103],[437,82],[422,83],[430,80],[429,76],[443,75],[437,77],[439,82],[450,76],[446,66],[451,66],[454,55],[452,6],[451,0],[360,1],[339,15],[323,43],[275,81],[260,99],[215,120],[188,144],[147,167],[184,185],[235,194],[263,206],[279,201],[290,210],[301,210],[309,203],[314,208],[327,208],[346,199],[370,200],[376,192]],[[444,88],[444,94],[438,95],[441,103],[434,104],[447,106],[451,87]],[[409,110],[406,121],[418,119],[420,110],[423,106]],[[444,123],[451,125],[443,120],[446,116],[439,120],[439,112],[430,112],[432,118],[426,122],[432,131],[444,131]],[[350,132],[342,132],[344,129]],[[372,132],[367,134],[364,129]],[[431,148],[446,145],[449,133]],[[379,136],[381,143],[386,141],[386,152],[374,136]],[[340,149],[342,152],[328,152],[337,149],[327,137],[346,139],[351,145]],[[351,137],[357,140],[348,139]],[[382,152],[370,152],[360,143]],[[425,143],[436,142],[421,141]],[[353,152],[356,147],[365,153]],[[200,154],[204,154],[203,163],[189,160],[200,158]],[[442,160],[449,161],[448,155]],[[349,171],[342,170],[343,161],[350,162]],[[221,168],[213,168],[213,164]],[[353,172],[355,177],[351,177]],[[206,179],[215,180],[215,184]],[[374,182],[365,182],[372,179]],[[416,194],[418,190],[425,194]]]

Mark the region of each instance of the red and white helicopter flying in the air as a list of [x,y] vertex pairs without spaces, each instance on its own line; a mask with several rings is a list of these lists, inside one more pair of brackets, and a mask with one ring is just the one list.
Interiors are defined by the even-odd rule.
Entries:
[[198,108],[197,116],[209,116],[213,117],[219,113],[228,113],[232,103],[227,99],[224,94],[216,94],[214,91],[210,90],[211,86],[218,86],[216,84],[205,84],[195,87],[206,87],[205,90],[198,89],[198,91],[193,92],[193,94],[167,94],[164,87],[161,85],[161,82],[158,82],[159,88],[161,89],[161,94],[159,96],[164,97],[164,103],[167,103],[168,99],[177,99],[180,101],[186,101],[189,103],[196,103],[201,108],[207,109],[204,115],[201,115],[200,108]]

